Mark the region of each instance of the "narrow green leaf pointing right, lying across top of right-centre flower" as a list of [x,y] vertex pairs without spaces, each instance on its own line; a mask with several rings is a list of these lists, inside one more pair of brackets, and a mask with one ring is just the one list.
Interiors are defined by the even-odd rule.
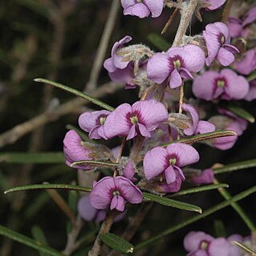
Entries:
[[237,135],[234,131],[219,130],[216,132],[207,132],[207,133],[198,134],[195,136],[188,136],[188,137],[182,138],[180,140],[173,140],[168,143],[162,144],[162,146],[167,147],[169,144],[178,143],[178,142],[186,143],[186,144],[193,144],[193,143],[203,141],[203,140],[213,140],[213,139],[220,138],[220,137],[234,136],[234,135]]

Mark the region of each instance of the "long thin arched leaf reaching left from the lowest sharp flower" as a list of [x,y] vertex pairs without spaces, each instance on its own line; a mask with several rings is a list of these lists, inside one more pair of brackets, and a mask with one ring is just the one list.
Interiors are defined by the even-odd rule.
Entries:
[[91,192],[91,188],[86,188],[78,185],[68,185],[68,184],[36,184],[36,185],[24,185],[6,190],[4,193],[13,193],[22,190],[34,190],[34,189],[67,189],[67,190],[77,190],[83,192]]

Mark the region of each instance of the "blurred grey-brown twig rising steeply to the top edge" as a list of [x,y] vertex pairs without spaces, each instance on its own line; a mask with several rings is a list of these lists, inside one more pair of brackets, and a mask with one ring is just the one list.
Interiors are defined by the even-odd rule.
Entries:
[[98,47],[95,61],[91,68],[90,79],[84,89],[84,91],[93,91],[96,88],[97,80],[100,75],[100,70],[102,68],[102,64],[104,62],[104,56],[108,49],[109,39],[112,35],[112,30],[116,25],[116,16],[120,7],[120,0],[113,0],[112,6],[108,14],[108,20],[104,27],[103,35],[100,39],[100,46]]

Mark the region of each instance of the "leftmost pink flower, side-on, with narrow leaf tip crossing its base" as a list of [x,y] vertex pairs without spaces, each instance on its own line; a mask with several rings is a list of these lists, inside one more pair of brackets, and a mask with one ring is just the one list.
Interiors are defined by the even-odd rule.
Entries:
[[[63,151],[66,158],[66,164],[71,165],[76,161],[92,160],[93,151],[83,144],[83,140],[75,130],[68,131],[63,140]],[[91,170],[93,167],[87,165],[73,166],[74,168]]]

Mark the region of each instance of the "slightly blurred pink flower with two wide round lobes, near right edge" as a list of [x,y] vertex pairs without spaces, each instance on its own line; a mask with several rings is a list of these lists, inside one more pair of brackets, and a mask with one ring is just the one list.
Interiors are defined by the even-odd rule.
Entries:
[[193,81],[193,94],[203,100],[242,100],[249,91],[249,83],[230,69],[206,71]]

